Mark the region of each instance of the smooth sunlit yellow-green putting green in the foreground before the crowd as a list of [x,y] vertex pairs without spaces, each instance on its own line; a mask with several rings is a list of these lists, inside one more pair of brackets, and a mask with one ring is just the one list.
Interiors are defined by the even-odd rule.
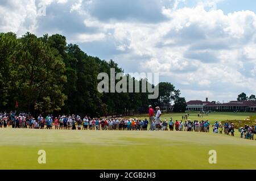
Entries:
[[[46,151],[46,164],[38,151]],[[209,150],[217,151],[210,164]],[[0,129],[0,169],[256,169],[256,141],[176,131]]]

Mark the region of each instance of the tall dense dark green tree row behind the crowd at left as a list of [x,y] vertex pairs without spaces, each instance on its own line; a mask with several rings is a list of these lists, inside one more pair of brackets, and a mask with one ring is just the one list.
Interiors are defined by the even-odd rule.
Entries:
[[[159,83],[158,99],[148,99],[148,91],[100,93],[97,76],[102,72],[110,75],[110,68],[123,73],[114,61],[88,56],[78,45],[67,44],[62,35],[26,33],[18,38],[14,33],[0,33],[0,110],[15,110],[18,102],[18,111],[34,115],[128,115],[147,112],[148,104],[161,106],[180,100],[180,91],[168,82]],[[123,76],[128,77],[127,82],[142,85],[142,79]],[[185,106],[184,101],[178,102],[183,103],[179,107]]]

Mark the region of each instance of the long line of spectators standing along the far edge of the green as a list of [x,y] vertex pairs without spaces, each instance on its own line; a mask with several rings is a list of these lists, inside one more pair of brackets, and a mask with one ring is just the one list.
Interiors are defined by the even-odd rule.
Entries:
[[[151,112],[150,112],[151,113]],[[159,113],[159,112],[158,112]],[[156,116],[158,115],[156,113]],[[160,116],[159,116],[160,117]],[[169,121],[166,119],[158,120],[158,117],[150,121],[147,119],[126,119],[126,118],[90,118],[85,116],[81,118],[79,115],[63,115],[54,117],[53,115],[47,115],[43,117],[39,115],[37,119],[27,113],[16,112],[0,113],[0,128],[29,128],[29,129],[79,129],[79,130],[119,130],[119,131],[188,131],[188,132],[209,132],[210,123],[208,120],[191,121],[188,119],[189,113],[182,116],[181,121],[174,121],[172,117]],[[184,120],[184,121],[183,121]],[[239,128],[238,131],[241,133],[241,138],[247,138],[254,140],[254,134],[256,125],[245,125],[245,127]],[[216,121],[212,125],[212,131],[214,133],[224,133],[227,135],[234,136],[235,128],[233,123],[218,123]]]

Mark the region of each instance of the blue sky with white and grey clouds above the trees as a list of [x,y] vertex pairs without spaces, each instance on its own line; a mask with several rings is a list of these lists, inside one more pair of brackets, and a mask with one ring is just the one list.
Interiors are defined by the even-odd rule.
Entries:
[[158,72],[187,100],[228,101],[256,94],[255,12],[249,0],[0,0],[0,32],[61,33],[126,73]]

